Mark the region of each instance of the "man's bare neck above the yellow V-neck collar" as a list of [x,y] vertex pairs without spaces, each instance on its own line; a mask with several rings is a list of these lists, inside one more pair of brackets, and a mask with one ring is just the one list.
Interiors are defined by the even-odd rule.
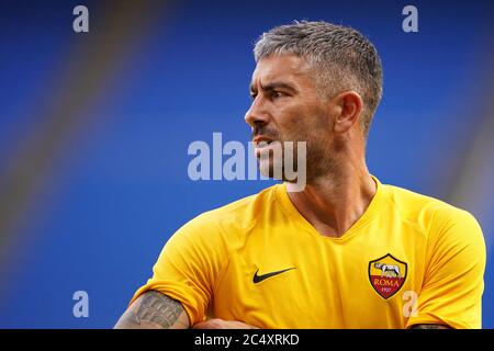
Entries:
[[341,237],[366,212],[377,191],[366,162],[338,166],[338,173],[312,180],[301,192],[287,190],[293,205],[323,236]]

